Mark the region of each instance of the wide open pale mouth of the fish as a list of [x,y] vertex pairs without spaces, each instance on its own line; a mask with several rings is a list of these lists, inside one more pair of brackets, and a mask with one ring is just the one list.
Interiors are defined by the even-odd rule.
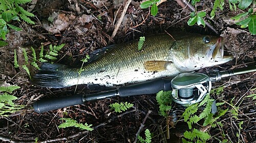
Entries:
[[224,44],[222,41],[223,39],[221,37],[218,38],[216,44],[211,47],[211,50],[213,50],[212,60],[214,60],[214,62],[218,62],[218,64],[223,64],[233,60],[233,56],[231,54],[227,52],[224,54]]

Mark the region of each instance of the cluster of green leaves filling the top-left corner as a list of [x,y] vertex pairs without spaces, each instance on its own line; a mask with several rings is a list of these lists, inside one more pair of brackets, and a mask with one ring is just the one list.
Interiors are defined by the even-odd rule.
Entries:
[[[20,21],[19,18],[24,21],[35,24],[29,17],[34,17],[34,14],[24,10],[20,5],[31,2],[31,0],[8,0],[0,1],[0,38],[6,40],[6,34],[9,32],[9,28],[12,28],[15,31],[21,31],[22,28],[10,24],[13,20]],[[5,44],[6,42],[2,41],[0,43]]]

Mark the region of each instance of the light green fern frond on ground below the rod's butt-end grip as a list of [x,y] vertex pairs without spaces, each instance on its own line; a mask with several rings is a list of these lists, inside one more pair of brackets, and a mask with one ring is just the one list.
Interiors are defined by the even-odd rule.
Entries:
[[93,130],[93,128],[91,128],[92,125],[88,125],[87,123],[85,124],[77,123],[77,121],[70,118],[60,118],[60,120],[65,120],[65,123],[60,124],[58,128],[76,127],[81,130],[88,130],[88,131]]

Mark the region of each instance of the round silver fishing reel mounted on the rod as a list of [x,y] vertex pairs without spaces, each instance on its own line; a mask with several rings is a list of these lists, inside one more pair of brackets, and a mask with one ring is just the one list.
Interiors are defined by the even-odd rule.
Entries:
[[170,83],[173,101],[185,107],[201,102],[211,89],[211,79],[203,73],[182,73]]

